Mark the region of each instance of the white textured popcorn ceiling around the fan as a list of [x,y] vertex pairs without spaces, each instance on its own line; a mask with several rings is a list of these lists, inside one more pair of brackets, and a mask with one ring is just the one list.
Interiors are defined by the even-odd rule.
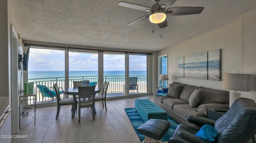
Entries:
[[[153,0],[123,0],[151,7]],[[204,6],[202,14],[167,16],[162,30],[148,14],[118,6],[120,0],[10,0],[22,38],[91,47],[158,51],[237,20],[256,0],[177,0],[175,6]],[[152,33],[154,29],[154,33]],[[160,37],[162,35],[162,38]]]

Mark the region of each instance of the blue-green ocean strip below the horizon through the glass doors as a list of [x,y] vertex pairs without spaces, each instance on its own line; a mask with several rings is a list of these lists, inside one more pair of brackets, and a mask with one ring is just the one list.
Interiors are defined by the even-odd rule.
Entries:
[[[130,76],[146,77],[147,71],[129,71]],[[28,79],[64,77],[65,71],[28,71]],[[98,76],[98,71],[69,71],[70,77]],[[125,71],[104,71],[104,76],[125,76]]]

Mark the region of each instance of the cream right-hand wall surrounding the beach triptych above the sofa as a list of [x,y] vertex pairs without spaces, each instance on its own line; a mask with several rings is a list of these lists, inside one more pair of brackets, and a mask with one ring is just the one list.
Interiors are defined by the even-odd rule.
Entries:
[[[202,35],[198,35],[158,52],[168,54],[169,83],[176,81],[196,86],[222,89],[222,81],[199,80],[178,77],[178,57],[222,49],[221,75],[224,72],[256,74],[256,10],[240,16],[240,19]],[[255,78],[254,78],[255,79]],[[254,80],[255,81],[255,80]],[[256,84],[252,92],[242,96],[256,100]]]

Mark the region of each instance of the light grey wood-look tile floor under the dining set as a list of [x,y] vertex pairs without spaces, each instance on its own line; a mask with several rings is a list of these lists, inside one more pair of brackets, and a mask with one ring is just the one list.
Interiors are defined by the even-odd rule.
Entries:
[[71,106],[61,106],[58,119],[57,106],[36,109],[34,119],[25,117],[21,122],[20,135],[26,139],[17,139],[14,143],[140,143],[124,108],[134,108],[134,100],[149,99],[153,96],[139,96],[107,101],[107,111],[102,102],[96,102],[95,120],[92,110],[81,109],[81,122],[78,112],[71,118]]

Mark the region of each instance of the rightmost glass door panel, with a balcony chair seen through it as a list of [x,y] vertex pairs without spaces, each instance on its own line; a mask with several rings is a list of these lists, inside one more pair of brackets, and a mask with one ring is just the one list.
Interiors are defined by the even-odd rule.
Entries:
[[129,94],[148,92],[147,56],[129,55]]

